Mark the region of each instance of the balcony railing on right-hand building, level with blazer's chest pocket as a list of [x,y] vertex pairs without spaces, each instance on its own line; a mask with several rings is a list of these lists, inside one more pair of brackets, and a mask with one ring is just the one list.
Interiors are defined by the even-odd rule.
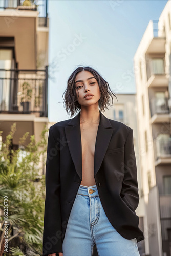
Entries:
[[159,158],[171,159],[171,136],[169,134],[159,134],[154,139],[154,154],[155,160]]

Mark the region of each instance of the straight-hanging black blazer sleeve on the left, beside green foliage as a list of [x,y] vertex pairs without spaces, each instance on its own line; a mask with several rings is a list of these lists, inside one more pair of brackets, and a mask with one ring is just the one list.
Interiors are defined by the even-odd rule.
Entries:
[[[58,136],[58,135],[57,135]],[[60,210],[60,148],[49,129],[46,173],[43,254],[62,252],[62,225]]]

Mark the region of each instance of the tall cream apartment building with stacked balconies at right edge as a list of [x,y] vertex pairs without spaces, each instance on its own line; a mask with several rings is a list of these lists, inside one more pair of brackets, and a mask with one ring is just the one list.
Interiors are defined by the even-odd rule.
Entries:
[[171,255],[171,2],[150,20],[134,56],[145,252]]

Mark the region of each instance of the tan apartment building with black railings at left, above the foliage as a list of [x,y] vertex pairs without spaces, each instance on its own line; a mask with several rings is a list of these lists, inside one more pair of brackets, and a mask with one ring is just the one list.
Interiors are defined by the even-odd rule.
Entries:
[[[4,142],[16,123],[12,141],[29,132],[40,139],[48,126],[48,0],[0,1],[0,130]],[[43,170],[45,172],[45,169]]]

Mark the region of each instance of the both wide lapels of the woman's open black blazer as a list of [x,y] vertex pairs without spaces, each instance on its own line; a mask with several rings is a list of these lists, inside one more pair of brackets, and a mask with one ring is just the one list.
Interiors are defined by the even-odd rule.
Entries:
[[[108,148],[112,137],[113,128],[108,118],[101,111],[100,122],[97,130],[95,152],[94,152],[94,176],[97,174],[105,152]],[[70,120],[65,127],[66,138],[76,172],[82,180],[82,148],[81,148],[81,131],[80,131],[80,112]]]

